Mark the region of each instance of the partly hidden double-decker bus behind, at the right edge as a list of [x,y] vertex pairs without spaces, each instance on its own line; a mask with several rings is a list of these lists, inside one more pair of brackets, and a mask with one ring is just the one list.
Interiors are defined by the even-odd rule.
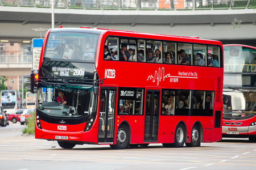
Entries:
[[256,141],[256,48],[224,45],[223,137]]

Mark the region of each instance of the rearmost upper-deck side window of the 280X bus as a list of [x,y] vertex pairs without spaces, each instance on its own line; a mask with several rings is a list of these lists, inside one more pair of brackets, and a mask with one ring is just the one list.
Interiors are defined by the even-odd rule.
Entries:
[[[222,59],[220,59],[220,47],[214,46],[214,45],[208,45],[207,46],[207,65],[209,65],[210,62],[213,61],[213,67],[220,67]],[[212,61],[210,61],[212,60]]]

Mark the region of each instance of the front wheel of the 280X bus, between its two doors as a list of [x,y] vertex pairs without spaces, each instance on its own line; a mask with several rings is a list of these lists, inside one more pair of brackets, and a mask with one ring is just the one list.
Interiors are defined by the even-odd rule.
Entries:
[[130,133],[126,125],[121,125],[117,130],[117,144],[110,145],[113,149],[125,149],[129,147]]

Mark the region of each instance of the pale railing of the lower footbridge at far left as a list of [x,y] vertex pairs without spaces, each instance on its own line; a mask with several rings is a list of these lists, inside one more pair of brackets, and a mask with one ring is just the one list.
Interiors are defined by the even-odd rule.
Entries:
[[1,64],[29,64],[32,63],[32,56],[0,56],[0,63]]

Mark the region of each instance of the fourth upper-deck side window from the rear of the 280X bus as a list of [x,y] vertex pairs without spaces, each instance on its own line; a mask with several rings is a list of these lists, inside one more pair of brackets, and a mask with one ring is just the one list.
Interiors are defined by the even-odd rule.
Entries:
[[171,62],[172,64],[177,63],[177,53],[176,52],[177,46],[176,42],[164,41],[163,42],[163,63],[170,63],[167,58],[167,54],[171,54]]

